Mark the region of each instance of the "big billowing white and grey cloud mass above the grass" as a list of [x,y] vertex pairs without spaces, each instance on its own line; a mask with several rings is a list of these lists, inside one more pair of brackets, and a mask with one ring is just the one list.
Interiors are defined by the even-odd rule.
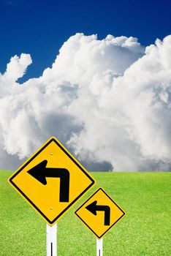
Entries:
[[171,36],[144,48],[75,34],[23,84],[31,56],[12,57],[0,73],[0,167],[15,169],[53,135],[88,170],[170,170],[170,56]]

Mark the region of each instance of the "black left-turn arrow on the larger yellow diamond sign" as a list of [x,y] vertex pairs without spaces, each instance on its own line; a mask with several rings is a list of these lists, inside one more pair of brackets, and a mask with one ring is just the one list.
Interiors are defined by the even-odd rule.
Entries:
[[46,167],[46,165],[47,160],[43,160],[28,170],[28,173],[43,185],[47,184],[46,178],[60,178],[59,202],[69,202],[69,170]]

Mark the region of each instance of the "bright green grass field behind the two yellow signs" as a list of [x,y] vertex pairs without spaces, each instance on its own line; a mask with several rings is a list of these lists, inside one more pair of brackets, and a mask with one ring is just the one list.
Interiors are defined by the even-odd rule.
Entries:
[[[0,170],[0,256],[45,256],[46,224]],[[96,255],[96,238],[74,211],[98,187],[125,217],[103,238],[104,256],[171,255],[171,173],[92,173],[88,194],[58,221],[58,256]]]

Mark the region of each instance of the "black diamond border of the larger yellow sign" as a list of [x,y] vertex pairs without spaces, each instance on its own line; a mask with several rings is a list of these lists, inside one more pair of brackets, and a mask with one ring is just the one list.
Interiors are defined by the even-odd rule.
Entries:
[[[90,178],[91,184],[90,184],[79,196],[77,196],[77,197],[75,198],[75,200],[73,200],[72,203],[70,203],[69,206],[67,206],[67,207],[64,209],[64,211],[61,211],[61,213],[58,214],[58,216],[57,216],[55,219],[53,219],[53,221],[50,221],[50,219],[48,219],[48,218],[45,216],[45,214],[43,214],[42,211],[40,211],[39,208],[37,208],[37,206],[35,206],[34,203],[23,193],[23,191],[20,190],[20,188],[12,181],[12,179],[15,178],[15,176],[17,176],[18,173],[20,173],[20,171],[23,170],[35,157],[37,157],[37,155],[38,155],[40,152],[42,152],[52,141],[54,141],[54,142],[56,143],[56,145],[57,145],[59,148],[61,148],[61,150],[64,151],[64,153],[72,160],[72,162],[74,162],[75,165],[77,165],[77,167],[79,167],[80,170],[82,170],[83,173],[86,174],[86,176],[88,176],[88,178]],[[45,144],[45,146],[43,146],[33,157],[31,157],[31,159],[28,160],[28,162],[26,162],[25,165],[23,165],[23,166],[18,170],[17,173],[15,173],[11,178],[9,178],[9,182],[11,182],[11,184],[20,192],[20,194],[23,195],[23,197],[25,197],[26,200],[28,200],[29,203],[31,203],[31,206],[34,206],[34,208],[37,209],[37,211],[39,212],[39,214],[41,214],[42,217],[44,217],[50,225],[52,225],[54,222],[56,222],[56,220],[57,220],[59,217],[61,217],[61,215],[63,215],[64,212],[67,211],[67,209],[70,208],[70,207],[73,205],[73,203],[75,203],[75,202],[76,202],[91,186],[93,186],[93,184],[95,183],[94,179],[91,178],[91,176],[89,176],[88,173],[86,173],[86,170],[84,170],[83,167],[81,167],[81,166],[79,165],[79,163],[76,162],[75,159],[72,158],[72,155],[70,155],[70,154],[65,150],[65,148],[63,148],[63,147],[58,143],[58,141],[55,140],[55,138],[52,138],[51,140],[49,140],[49,141]]]

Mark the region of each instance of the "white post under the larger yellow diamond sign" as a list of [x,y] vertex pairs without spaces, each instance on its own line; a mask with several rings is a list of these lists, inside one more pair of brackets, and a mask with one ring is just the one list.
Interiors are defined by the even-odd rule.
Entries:
[[47,256],[57,256],[57,225],[46,225]]

